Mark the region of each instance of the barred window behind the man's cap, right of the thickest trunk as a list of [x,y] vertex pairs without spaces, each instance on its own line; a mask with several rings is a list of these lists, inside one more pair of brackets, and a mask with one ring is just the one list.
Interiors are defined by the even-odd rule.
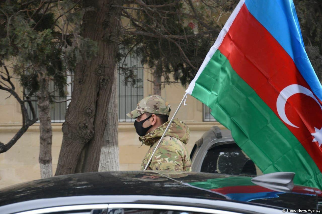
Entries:
[[[137,107],[137,103],[143,99],[143,65],[141,58],[134,55],[128,55],[119,62],[119,66],[132,67],[136,73],[136,84],[133,86],[132,82],[124,84],[124,75],[121,74],[118,68],[117,75],[117,90],[118,90],[118,121],[119,122],[134,122],[135,119],[129,118],[126,114]],[[118,66],[118,67],[119,67]]]

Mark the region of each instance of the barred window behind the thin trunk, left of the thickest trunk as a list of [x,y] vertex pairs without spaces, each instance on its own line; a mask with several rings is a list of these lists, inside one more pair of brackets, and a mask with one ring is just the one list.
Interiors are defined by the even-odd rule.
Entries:
[[[71,83],[72,81],[72,75],[68,75],[67,76],[67,83]],[[54,91],[53,92],[53,96],[55,100],[68,100],[71,98],[71,93],[72,93],[72,84],[67,85],[65,87],[66,90],[66,96],[65,97],[60,97],[58,94],[58,91],[55,90],[56,87],[53,84],[53,82],[49,83],[49,91]],[[26,92],[27,94],[28,92]],[[36,95],[32,96],[30,99],[35,100],[37,99]],[[66,113],[66,109],[67,106],[69,105],[71,101],[67,101],[67,102],[63,102],[63,103],[51,103],[50,104],[50,118],[51,118],[51,122],[52,123],[62,123],[65,122],[65,113]],[[33,103],[33,107],[35,109],[35,113],[36,113],[36,117],[39,118],[39,111],[38,111],[38,106],[37,106],[37,102],[32,102]],[[27,108],[29,117],[32,117],[32,113],[31,113],[31,109],[28,105],[28,103],[25,103],[25,106]],[[37,123],[39,123],[40,121],[37,120]]]

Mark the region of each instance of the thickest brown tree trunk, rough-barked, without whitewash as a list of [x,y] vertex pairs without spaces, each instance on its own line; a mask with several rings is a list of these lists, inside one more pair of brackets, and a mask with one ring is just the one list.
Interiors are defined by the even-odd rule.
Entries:
[[84,14],[82,37],[96,41],[98,52],[90,61],[76,66],[72,100],[62,126],[62,147],[55,175],[98,171],[107,124],[121,10],[110,7],[118,1],[88,0],[86,3],[95,11]]

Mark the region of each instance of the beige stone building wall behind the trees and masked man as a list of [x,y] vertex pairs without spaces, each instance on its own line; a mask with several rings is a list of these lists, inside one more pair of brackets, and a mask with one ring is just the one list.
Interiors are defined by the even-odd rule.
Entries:
[[[144,72],[144,96],[153,94],[152,76]],[[14,84],[18,86],[17,80]],[[17,87],[17,92],[22,91]],[[166,85],[162,96],[171,104],[173,115],[185,94],[181,85]],[[7,143],[20,129],[22,116],[18,102],[13,96],[0,90],[0,142]],[[189,152],[203,133],[218,122],[203,122],[203,105],[194,97],[188,95],[186,106],[182,105],[177,118],[187,123],[191,137],[187,144]],[[52,166],[55,172],[62,143],[62,123],[52,123]],[[120,170],[139,170],[141,161],[149,147],[138,140],[133,122],[120,122],[118,125],[119,163]],[[39,123],[29,127],[26,133],[7,152],[0,154],[0,188],[9,185],[40,179],[39,156]]]

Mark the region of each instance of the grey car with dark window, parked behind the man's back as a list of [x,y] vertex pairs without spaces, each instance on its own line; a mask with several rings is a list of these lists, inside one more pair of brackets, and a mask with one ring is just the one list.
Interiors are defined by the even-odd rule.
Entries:
[[193,172],[258,176],[263,173],[232,138],[230,130],[213,126],[191,151]]

